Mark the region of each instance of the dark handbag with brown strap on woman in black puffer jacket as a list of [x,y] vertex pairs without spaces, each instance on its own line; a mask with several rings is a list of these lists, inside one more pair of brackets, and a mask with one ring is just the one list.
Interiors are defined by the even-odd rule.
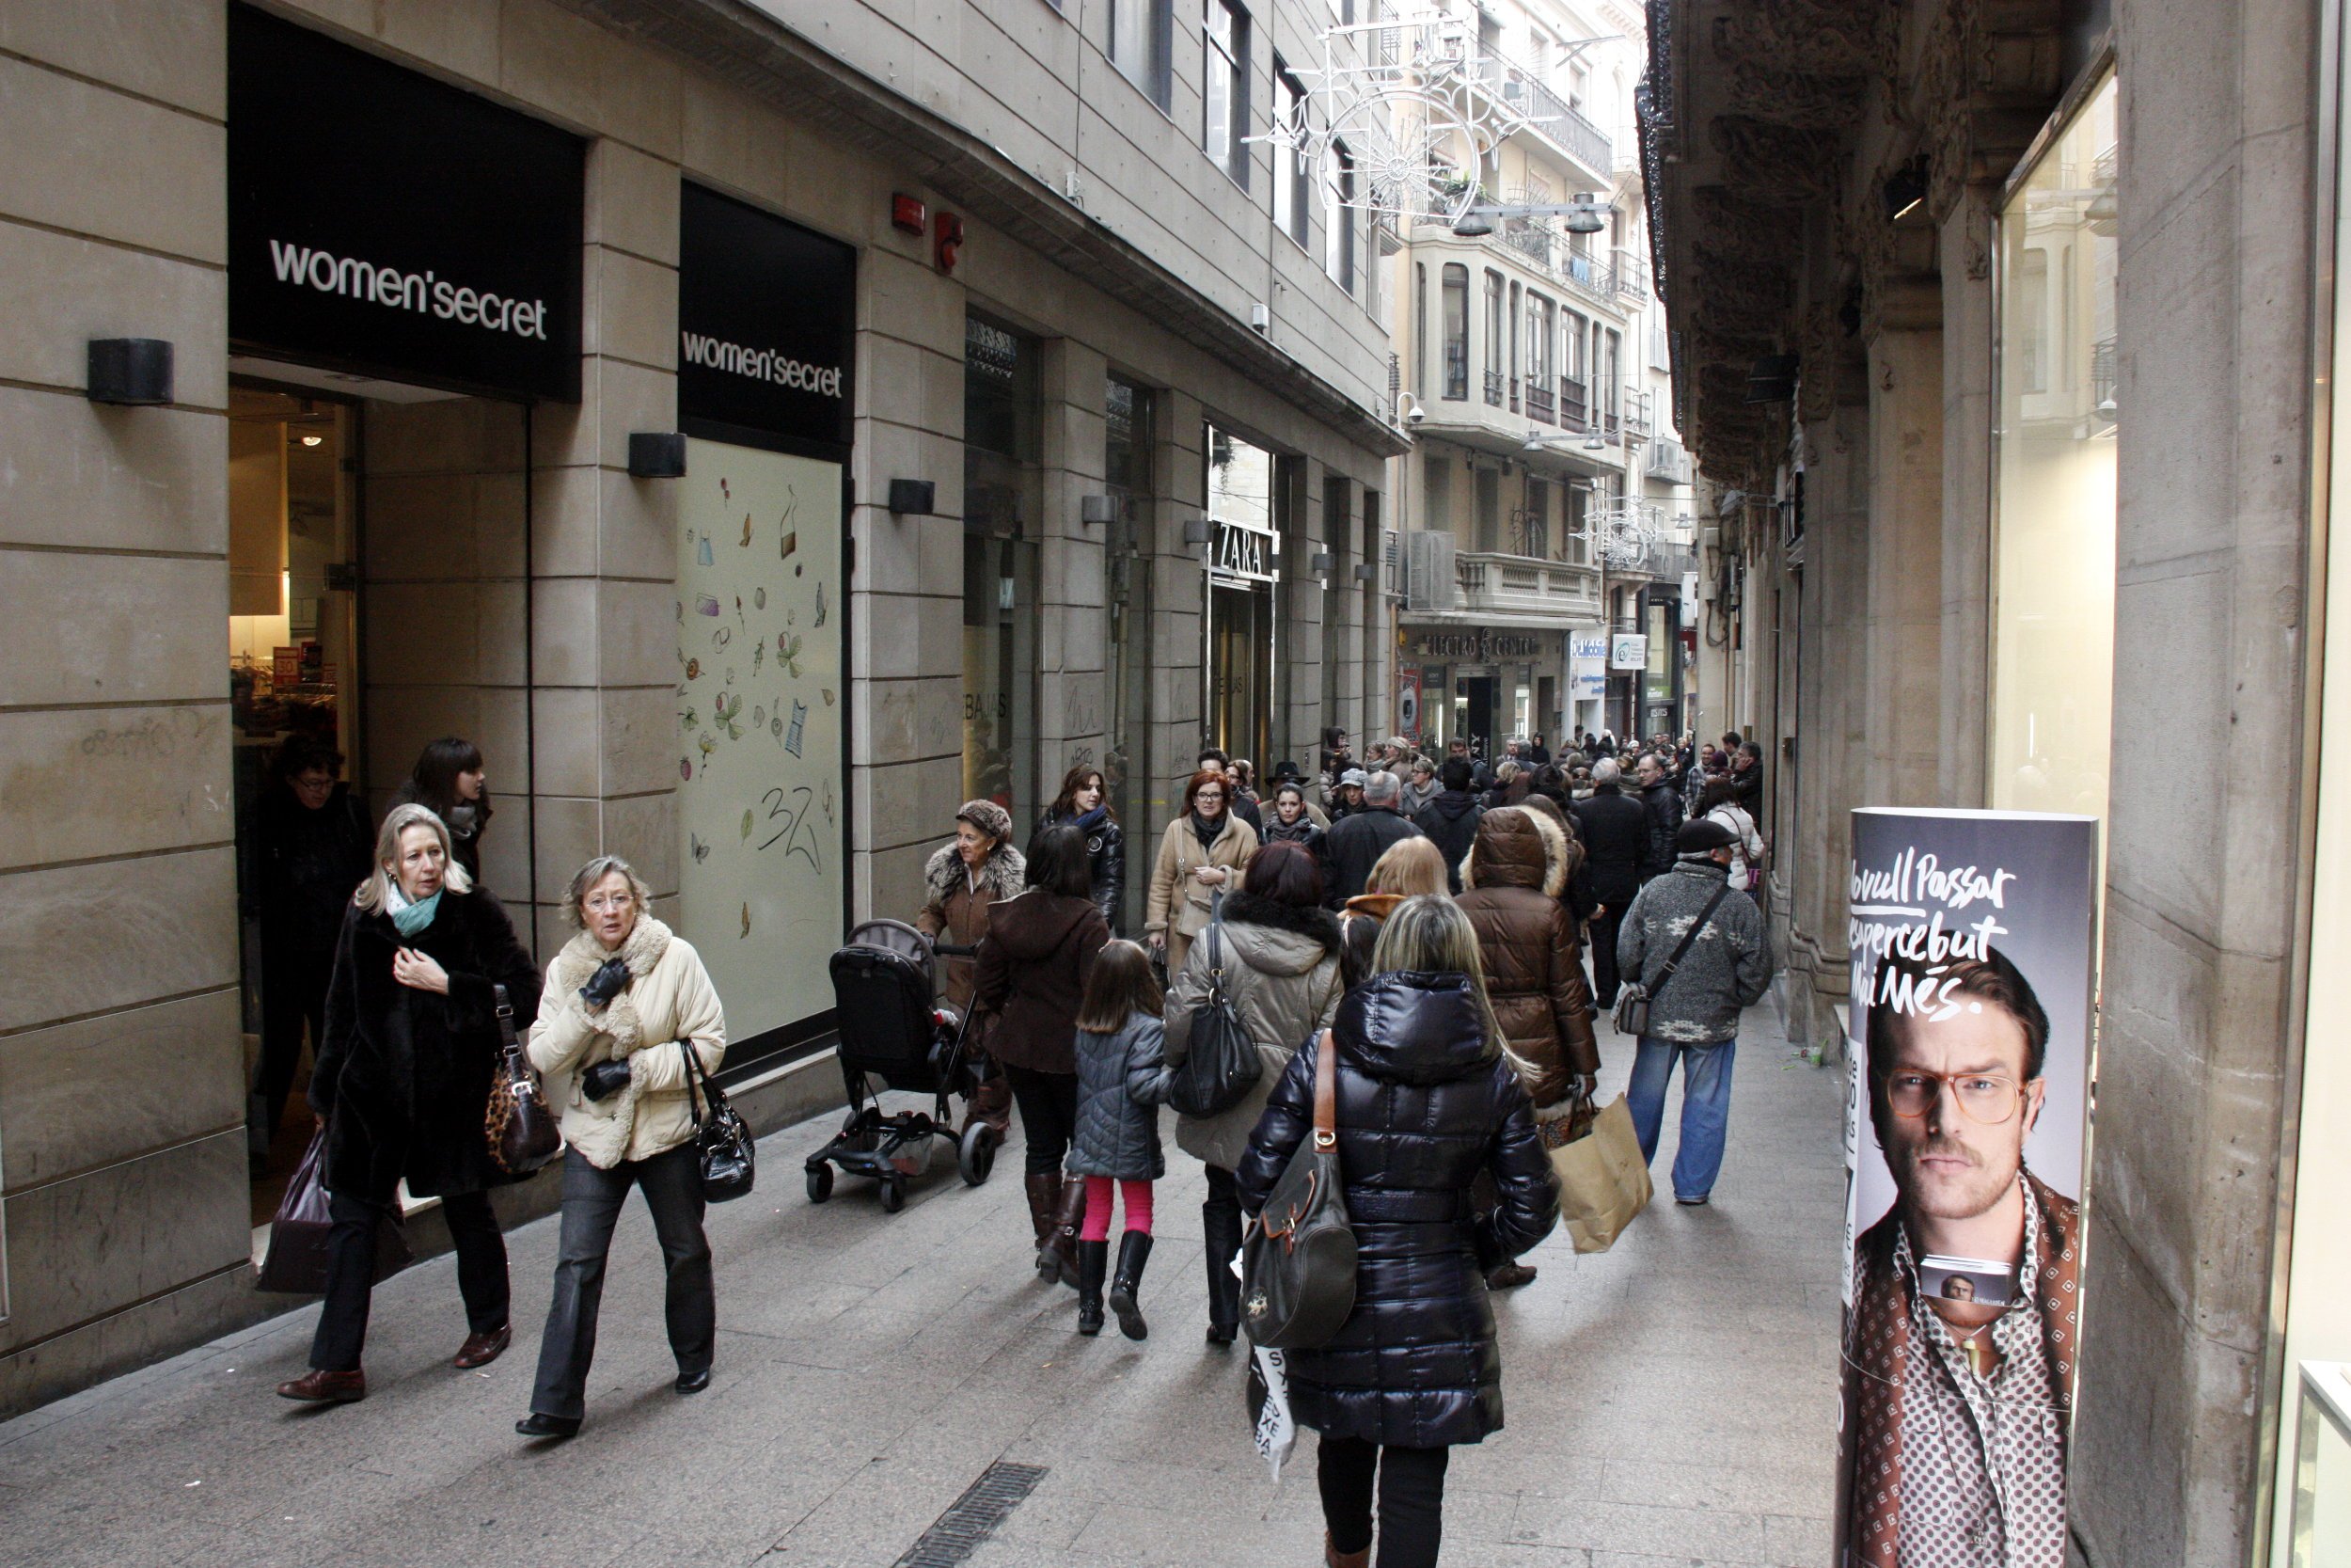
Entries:
[[1314,1046],[1314,1131],[1241,1237],[1241,1324],[1262,1349],[1328,1345],[1354,1312],[1354,1222],[1338,1164],[1338,1041]]

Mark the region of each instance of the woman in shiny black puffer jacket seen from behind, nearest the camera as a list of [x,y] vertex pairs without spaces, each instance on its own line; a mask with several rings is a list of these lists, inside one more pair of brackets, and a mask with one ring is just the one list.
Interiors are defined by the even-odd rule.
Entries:
[[[1291,1415],[1321,1434],[1326,1554],[1368,1568],[1436,1561],[1446,1455],[1502,1429],[1486,1272],[1559,1222],[1559,1180],[1502,1056],[1476,933],[1451,898],[1387,917],[1378,971],[1338,1009],[1338,1152],[1354,1220],[1354,1312],[1288,1352]],[[1314,1131],[1312,1046],[1291,1058],[1237,1175],[1251,1211]],[[1476,1213],[1469,1182],[1493,1178]]]

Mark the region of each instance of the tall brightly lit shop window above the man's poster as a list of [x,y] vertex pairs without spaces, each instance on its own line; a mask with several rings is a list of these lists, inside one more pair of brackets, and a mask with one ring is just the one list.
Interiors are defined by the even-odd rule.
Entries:
[[2106,813],[2116,85],[2001,209],[1991,804]]

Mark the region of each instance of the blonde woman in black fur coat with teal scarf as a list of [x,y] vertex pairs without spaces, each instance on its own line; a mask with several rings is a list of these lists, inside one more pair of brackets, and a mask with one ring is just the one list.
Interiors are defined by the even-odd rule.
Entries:
[[327,1039],[310,1107],[327,1131],[327,1302],[310,1371],[277,1392],[301,1401],[367,1396],[360,1366],[374,1293],[376,1227],[397,1187],[437,1197],[456,1246],[465,1342],[456,1366],[494,1361],[508,1326],[505,1237],[489,1190],[498,1168],[482,1119],[498,1063],[498,999],[538,1006],[538,971],[505,910],[475,886],[449,830],[423,806],[393,806],[376,832],[376,870],[353,896],[327,990]]

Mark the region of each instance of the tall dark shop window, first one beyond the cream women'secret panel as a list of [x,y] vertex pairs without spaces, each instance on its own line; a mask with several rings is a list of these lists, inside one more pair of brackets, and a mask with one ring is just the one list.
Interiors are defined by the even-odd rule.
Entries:
[[1037,341],[964,317],[964,797],[1037,797]]

